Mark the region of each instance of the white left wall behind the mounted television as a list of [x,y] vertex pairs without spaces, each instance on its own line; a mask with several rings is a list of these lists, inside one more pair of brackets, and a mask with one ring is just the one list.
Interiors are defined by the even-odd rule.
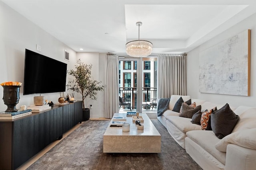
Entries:
[[[42,47],[42,52],[36,51],[36,44]],[[55,37],[27,20],[9,6],[0,1],[0,83],[6,81],[24,80],[25,49],[30,49],[42,55],[46,55],[58,61],[68,64],[68,69],[74,68],[76,52],[67,45],[58,41]],[[70,53],[70,61],[64,60],[64,49]],[[47,72],[47,68],[45,69]],[[58,76],[56,72],[49,72],[52,76]],[[50,82],[46,82],[50,83]],[[68,92],[64,92],[66,95]],[[37,95],[23,96],[23,86],[20,88],[21,105],[32,105],[33,97]],[[0,87],[0,111],[7,109],[2,100],[3,88]],[[42,94],[46,99],[57,103],[59,93]]]

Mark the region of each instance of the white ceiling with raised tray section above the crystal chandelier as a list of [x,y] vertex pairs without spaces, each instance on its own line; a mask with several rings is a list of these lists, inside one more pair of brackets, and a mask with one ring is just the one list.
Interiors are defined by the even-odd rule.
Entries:
[[125,53],[138,39],[152,53],[188,52],[256,13],[256,0],[2,0],[75,51]]

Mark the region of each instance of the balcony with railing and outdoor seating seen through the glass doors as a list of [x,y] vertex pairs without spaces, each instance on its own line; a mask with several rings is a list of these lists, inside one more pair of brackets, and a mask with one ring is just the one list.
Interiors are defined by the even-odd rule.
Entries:
[[[157,88],[143,87],[142,88],[142,113],[156,112],[156,90]],[[134,87],[120,87],[119,96],[127,98],[131,102],[132,111],[136,111],[137,105],[137,88]],[[119,112],[126,113],[130,111],[129,107],[121,106]]]

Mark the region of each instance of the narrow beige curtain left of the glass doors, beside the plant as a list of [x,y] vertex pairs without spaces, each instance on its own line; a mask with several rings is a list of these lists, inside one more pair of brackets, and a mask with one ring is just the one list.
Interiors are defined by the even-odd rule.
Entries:
[[106,89],[105,89],[105,117],[112,118],[114,113],[118,113],[118,57],[107,55],[106,62]]

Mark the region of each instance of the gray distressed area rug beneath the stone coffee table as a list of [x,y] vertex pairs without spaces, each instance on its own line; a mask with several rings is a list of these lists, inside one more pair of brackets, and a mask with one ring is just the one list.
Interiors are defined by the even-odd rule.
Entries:
[[85,121],[27,170],[201,170],[158,120],[152,122],[161,134],[161,153],[103,153],[109,122]]

